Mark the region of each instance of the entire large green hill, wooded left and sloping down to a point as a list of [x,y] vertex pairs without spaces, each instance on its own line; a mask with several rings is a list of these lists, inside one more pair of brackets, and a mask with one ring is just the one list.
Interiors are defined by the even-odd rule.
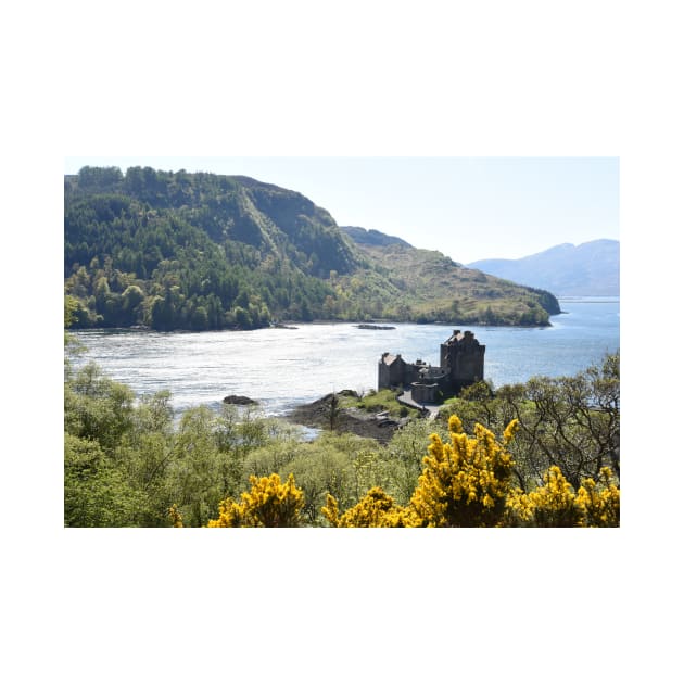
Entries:
[[299,192],[141,167],[65,176],[64,287],[75,327],[156,330],[372,318],[545,325],[557,306],[398,238],[345,232]]

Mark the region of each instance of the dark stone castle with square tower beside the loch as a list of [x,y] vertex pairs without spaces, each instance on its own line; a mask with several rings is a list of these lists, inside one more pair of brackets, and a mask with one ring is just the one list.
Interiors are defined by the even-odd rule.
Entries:
[[385,352],[378,363],[378,389],[410,388],[416,404],[436,404],[484,377],[484,344],[470,330],[454,334],[440,345],[440,365],[418,359],[406,363],[401,354]]

